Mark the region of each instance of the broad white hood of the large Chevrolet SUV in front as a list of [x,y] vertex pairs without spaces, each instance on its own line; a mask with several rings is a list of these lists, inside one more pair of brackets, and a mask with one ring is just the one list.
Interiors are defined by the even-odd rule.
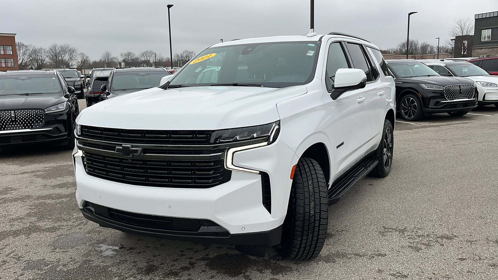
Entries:
[[305,86],[151,88],[97,103],[78,124],[147,130],[219,130],[279,120],[276,104],[302,95]]

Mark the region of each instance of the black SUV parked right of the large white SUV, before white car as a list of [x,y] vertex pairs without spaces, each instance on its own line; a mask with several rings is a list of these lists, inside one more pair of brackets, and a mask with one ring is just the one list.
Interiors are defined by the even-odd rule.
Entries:
[[442,77],[412,59],[386,60],[396,83],[396,110],[407,121],[425,114],[463,116],[477,107],[476,83],[467,78]]

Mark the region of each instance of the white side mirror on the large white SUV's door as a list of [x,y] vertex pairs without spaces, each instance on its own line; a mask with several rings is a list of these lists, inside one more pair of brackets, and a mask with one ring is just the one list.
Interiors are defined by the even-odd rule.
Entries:
[[336,72],[334,91],[330,95],[332,99],[338,98],[348,90],[363,89],[367,84],[367,75],[362,69],[340,68]]

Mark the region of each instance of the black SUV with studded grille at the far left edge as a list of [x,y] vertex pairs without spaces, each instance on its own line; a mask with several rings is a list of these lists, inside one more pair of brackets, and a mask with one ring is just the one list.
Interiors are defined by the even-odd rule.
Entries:
[[72,149],[78,99],[60,73],[0,72],[0,148],[51,143]]

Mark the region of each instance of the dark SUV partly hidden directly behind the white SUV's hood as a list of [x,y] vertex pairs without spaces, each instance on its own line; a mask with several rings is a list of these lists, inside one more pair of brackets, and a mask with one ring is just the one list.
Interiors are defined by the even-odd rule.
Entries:
[[113,98],[118,95],[158,87],[161,79],[169,75],[171,74],[162,67],[114,69],[107,84],[102,86],[101,91],[105,93],[106,99]]

